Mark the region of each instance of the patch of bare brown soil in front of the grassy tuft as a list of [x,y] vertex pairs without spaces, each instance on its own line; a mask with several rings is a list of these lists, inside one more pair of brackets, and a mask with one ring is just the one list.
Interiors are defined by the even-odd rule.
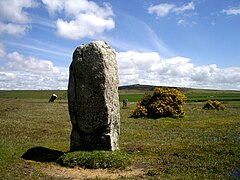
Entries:
[[48,176],[57,179],[142,179],[145,171],[140,168],[129,168],[128,170],[110,170],[110,169],[83,169],[83,168],[66,168],[51,165],[42,169],[42,172]]

